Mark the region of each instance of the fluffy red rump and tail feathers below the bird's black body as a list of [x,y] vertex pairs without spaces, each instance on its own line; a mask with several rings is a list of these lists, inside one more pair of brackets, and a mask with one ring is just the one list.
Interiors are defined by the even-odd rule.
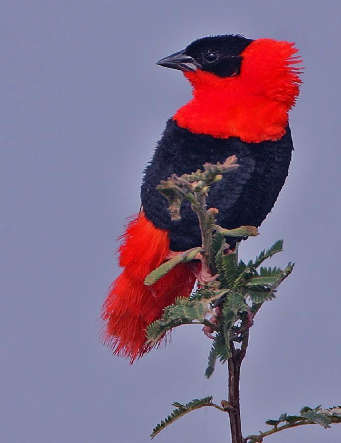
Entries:
[[154,285],[144,285],[145,277],[166,259],[169,239],[168,231],[155,228],[143,213],[129,223],[122,240],[119,264],[124,270],[103,306],[103,339],[115,355],[129,357],[133,363],[150,350],[146,345],[148,325],[176,297],[190,295],[195,277],[188,265],[179,264]]

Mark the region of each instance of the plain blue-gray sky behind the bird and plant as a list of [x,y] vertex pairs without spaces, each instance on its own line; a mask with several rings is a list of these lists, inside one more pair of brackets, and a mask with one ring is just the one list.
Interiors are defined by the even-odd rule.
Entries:
[[[155,66],[208,34],[296,41],[306,71],[291,112],[289,178],[254,256],[278,238],[296,262],[252,328],[242,368],[244,434],[305,405],[341,403],[340,5],[338,1],[0,1],[1,413],[4,443],[148,442],[185,402],[226,398],[206,381],[200,328],[129,366],[99,342],[118,275],[116,237],[140,208],[142,170],[165,120],[190,97]],[[157,441],[227,441],[227,416],[201,410]],[[269,442],[336,442],[341,426]]]

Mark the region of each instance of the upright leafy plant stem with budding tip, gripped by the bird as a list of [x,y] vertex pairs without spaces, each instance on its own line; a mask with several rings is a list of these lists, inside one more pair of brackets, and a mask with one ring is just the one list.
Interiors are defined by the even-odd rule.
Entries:
[[[207,163],[203,171],[198,170],[181,177],[173,174],[157,186],[168,200],[172,220],[181,218],[180,209],[184,200],[191,203],[191,208],[198,217],[202,245],[178,254],[170,254],[168,261],[146,277],[145,284],[153,285],[181,262],[200,260],[201,271],[196,274],[199,282],[196,292],[189,298],[177,298],[173,305],[164,309],[162,318],[149,325],[147,344],[150,347],[157,346],[168,331],[181,325],[205,325],[209,333],[207,330],[205,332],[213,338],[205,375],[207,378],[212,375],[217,360],[221,363],[228,361],[229,397],[228,402],[223,401],[222,407],[214,404],[212,397],[196,399],[185,405],[175,403],[176,409],[156,426],[152,438],[188,412],[210,406],[228,413],[232,443],[247,442],[241,433],[239,378],[241,363],[247,350],[249,328],[262,304],[275,297],[275,290],[291,273],[293,265],[289,263],[285,270],[276,267],[261,267],[258,270],[266,259],[282,250],[282,240],[277,241],[268,250],[261,251],[256,259],[250,260],[247,265],[242,260],[238,261],[238,243],[233,252],[229,249],[226,238],[258,235],[257,228],[253,226],[222,228],[215,220],[218,209],[207,209],[210,186],[221,180],[222,174],[238,168],[236,162],[236,157],[232,156],[223,164]],[[215,335],[212,335],[211,331]],[[241,343],[240,349],[235,348],[234,342]],[[302,418],[300,420],[302,421]],[[262,437],[248,437],[251,442],[261,441],[260,438]]]

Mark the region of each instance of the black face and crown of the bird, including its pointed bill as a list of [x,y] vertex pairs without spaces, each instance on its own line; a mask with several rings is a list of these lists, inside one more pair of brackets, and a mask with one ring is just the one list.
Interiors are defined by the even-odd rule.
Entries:
[[241,53],[252,42],[240,35],[203,37],[186,49],[162,58],[157,64],[181,71],[208,71],[219,77],[233,77],[241,69]]

